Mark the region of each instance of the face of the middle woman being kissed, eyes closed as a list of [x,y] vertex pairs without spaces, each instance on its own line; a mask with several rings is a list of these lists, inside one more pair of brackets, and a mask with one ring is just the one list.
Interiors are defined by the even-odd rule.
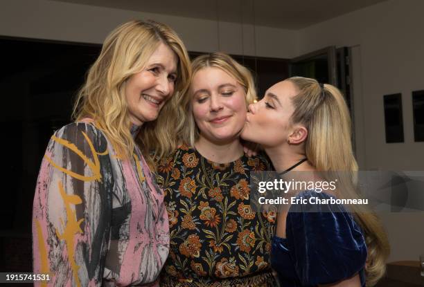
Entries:
[[247,107],[245,90],[234,77],[220,68],[202,68],[193,77],[191,94],[200,136],[217,144],[238,139]]

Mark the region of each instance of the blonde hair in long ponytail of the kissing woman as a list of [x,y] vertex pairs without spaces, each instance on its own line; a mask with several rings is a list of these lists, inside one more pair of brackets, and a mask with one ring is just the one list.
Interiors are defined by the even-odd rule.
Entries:
[[[338,196],[359,198],[355,186],[358,167],[351,144],[351,117],[342,93],[330,84],[321,88],[314,79],[291,77],[288,81],[299,91],[292,98],[294,113],[290,120],[308,129],[305,142],[308,161],[318,171],[339,175]],[[366,286],[373,286],[385,274],[390,250],[387,234],[375,213],[357,205],[350,208],[364,230],[368,249]]]

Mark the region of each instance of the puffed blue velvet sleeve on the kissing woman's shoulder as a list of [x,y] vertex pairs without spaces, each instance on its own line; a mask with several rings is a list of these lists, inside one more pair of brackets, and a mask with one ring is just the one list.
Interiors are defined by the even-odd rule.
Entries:
[[[306,191],[297,198],[308,202],[311,198],[318,201],[334,197]],[[286,236],[290,252],[299,266],[303,266],[299,267],[299,273],[308,278],[304,283],[331,283],[351,277],[364,268],[367,256],[364,234],[342,205],[292,205],[286,220]]]

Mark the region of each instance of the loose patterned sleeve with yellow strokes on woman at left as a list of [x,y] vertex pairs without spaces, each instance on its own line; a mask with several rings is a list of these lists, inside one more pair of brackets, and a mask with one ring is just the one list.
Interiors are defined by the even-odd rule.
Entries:
[[41,286],[101,286],[112,212],[103,133],[68,124],[51,137],[33,203],[33,269]]

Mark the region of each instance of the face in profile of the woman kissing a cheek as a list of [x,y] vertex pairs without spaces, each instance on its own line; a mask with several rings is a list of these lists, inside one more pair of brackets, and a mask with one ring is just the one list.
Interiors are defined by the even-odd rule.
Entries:
[[292,131],[290,117],[294,107],[291,98],[294,95],[297,95],[297,89],[290,81],[270,87],[262,100],[249,105],[241,137],[263,147],[276,147],[287,142]]

